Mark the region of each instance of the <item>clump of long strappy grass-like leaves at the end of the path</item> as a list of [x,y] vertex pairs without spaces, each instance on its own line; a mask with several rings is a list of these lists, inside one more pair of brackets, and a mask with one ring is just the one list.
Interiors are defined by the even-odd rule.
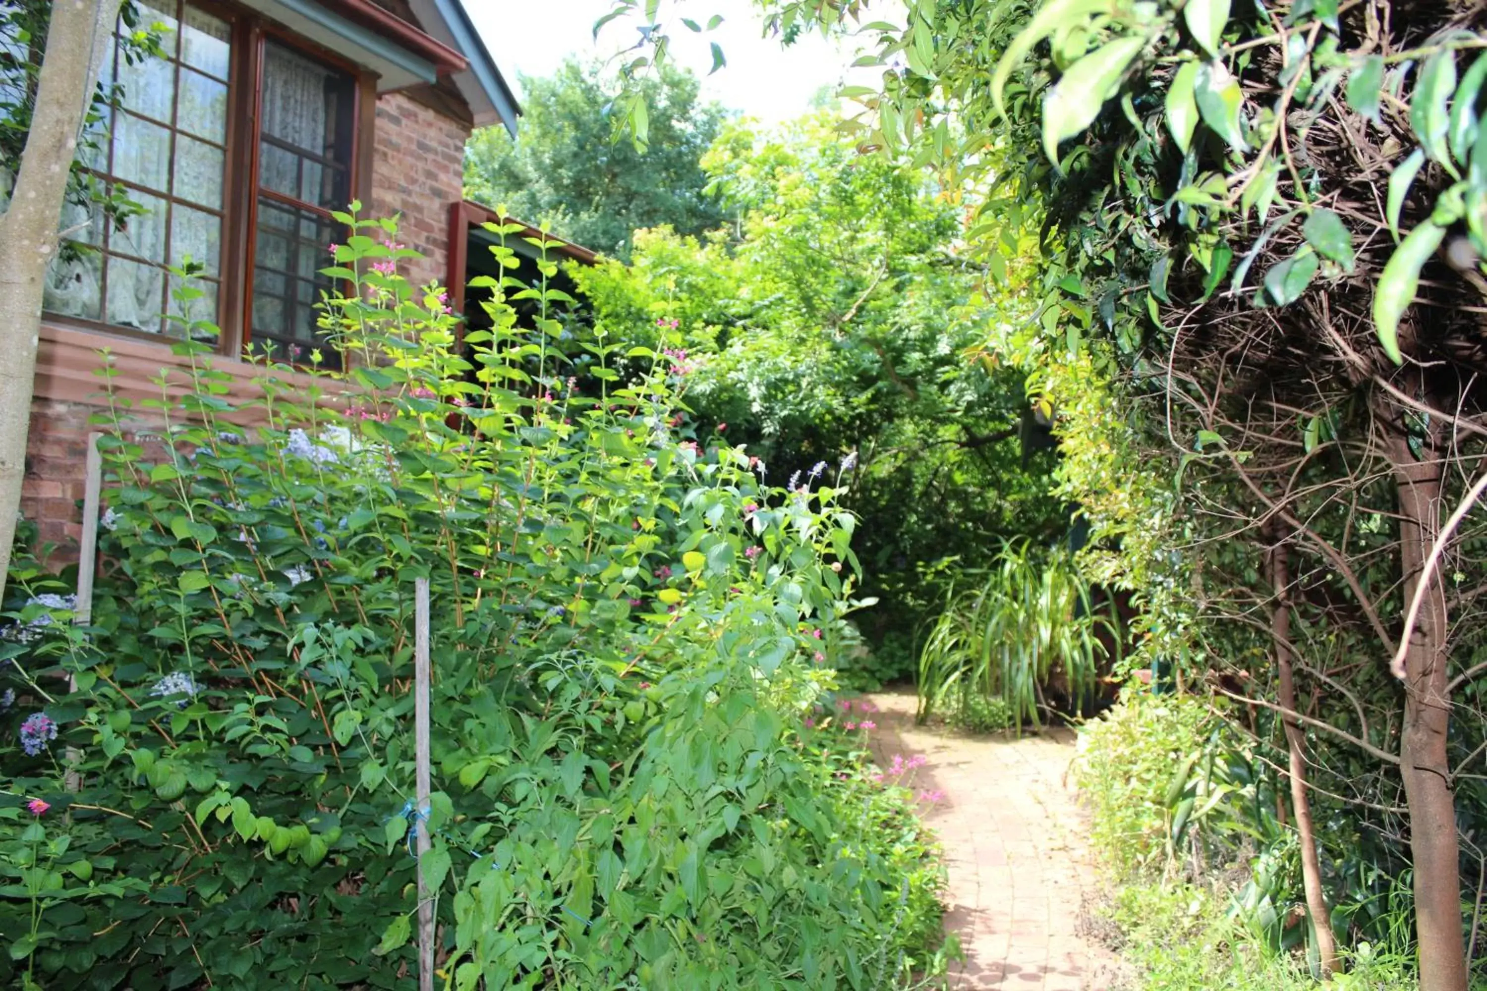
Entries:
[[919,718],[1001,698],[1013,725],[1038,725],[1054,682],[1078,712],[1093,698],[1105,655],[1096,626],[1105,620],[1072,563],[1008,544],[995,568],[972,578],[980,585],[950,596],[919,654]]

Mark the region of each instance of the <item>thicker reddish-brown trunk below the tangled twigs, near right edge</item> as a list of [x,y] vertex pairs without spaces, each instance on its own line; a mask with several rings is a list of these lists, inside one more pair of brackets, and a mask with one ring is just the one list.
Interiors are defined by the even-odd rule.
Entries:
[[[1399,493],[1399,559],[1408,602],[1441,526],[1441,461],[1429,441],[1420,459],[1404,434],[1390,432],[1387,443]],[[1420,988],[1466,991],[1460,850],[1445,749],[1450,727],[1445,593],[1435,578],[1430,585],[1405,655],[1399,771],[1410,805]]]

